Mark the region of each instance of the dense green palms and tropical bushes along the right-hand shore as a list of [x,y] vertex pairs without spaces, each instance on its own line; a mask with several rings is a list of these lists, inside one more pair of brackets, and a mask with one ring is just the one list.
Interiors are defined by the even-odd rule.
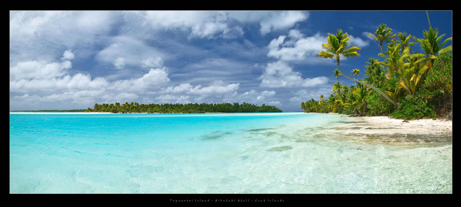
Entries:
[[[302,102],[301,109],[399,119],[452,119],[452,45],[445,46],[452,38],[442,41],[445,34],[437,36],[437,28],[431,27],[424,30],[423,38],[407,36],[405,32],[392,34],[391,30],[381,24],[374,34],[368,34],[378,41],[382,52],[378,56],[382,61],[374,57],[368,59],[363,79],[357,79],[361,74],[359,69],[347,75],[340,67],[341,57],[360,56],[357,53],[360,48],[349,47],[348,34],[343,34],[341,29],[336,35],[329,34],[328,43],[322,45],[323,51],[318,56],[337,61],[338,69],[333,71],[333,76],[338,82],[326,99],[321,95],[319,101]],[[410,42],[412,37],[416,42]],[[422,53],[410,48],[418,44]],[[342,85],[341,77],[356,84]]]

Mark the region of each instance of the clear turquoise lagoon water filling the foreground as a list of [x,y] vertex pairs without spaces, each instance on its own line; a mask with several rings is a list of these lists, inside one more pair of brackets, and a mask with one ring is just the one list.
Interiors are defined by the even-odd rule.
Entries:
[[452,192],[451,144],[364,142],[353,118],[13,113],[10,193]]

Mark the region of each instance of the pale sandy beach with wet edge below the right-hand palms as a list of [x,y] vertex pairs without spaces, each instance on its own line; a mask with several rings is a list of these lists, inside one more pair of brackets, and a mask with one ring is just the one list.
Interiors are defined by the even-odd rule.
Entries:
[[420,119],[406,123],[385,116],[345,118],[342,124],[325,128],[324,135],[363,144],[452,145],[452,121]]

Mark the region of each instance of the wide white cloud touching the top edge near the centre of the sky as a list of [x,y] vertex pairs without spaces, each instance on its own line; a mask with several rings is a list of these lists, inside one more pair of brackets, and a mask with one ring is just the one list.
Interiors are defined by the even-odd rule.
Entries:
[[306,11],[146,11],[131,12],[142,16],[154,28],[190,31],[189,37],[236,38],[243,29],[234,22],[260,24],[265,35],[275,30],[293,27],[309,17]]

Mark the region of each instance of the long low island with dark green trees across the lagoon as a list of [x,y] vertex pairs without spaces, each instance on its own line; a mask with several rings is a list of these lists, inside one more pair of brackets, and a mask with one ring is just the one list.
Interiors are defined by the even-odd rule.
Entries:
[[257,106],[243,102],[222,104],[138,104],[125,102],[120,104],[95,104],[93,109],[84,112],[112,112],[112,113],[257,113],[257,112],[282,112],[275,106]]

